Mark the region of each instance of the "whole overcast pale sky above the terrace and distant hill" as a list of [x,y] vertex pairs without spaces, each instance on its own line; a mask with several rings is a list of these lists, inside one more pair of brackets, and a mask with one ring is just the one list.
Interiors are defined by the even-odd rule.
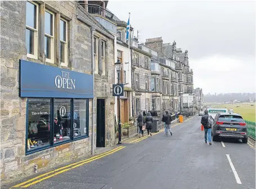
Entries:
[[139,42],[162,37],[188,51],[194,88],[203,93],[255,92],[255,1],[109,1],[139,30]]

